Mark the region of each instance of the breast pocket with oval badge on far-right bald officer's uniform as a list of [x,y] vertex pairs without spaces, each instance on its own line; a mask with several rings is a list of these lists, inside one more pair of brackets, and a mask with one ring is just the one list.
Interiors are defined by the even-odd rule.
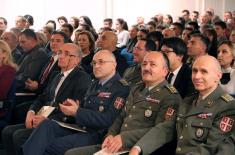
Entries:
[[192,137],[196,141],[206,142],[210,129],[212,127],[212,121],[209,119],[195,119],[191,123],[192,130],[189,131]]

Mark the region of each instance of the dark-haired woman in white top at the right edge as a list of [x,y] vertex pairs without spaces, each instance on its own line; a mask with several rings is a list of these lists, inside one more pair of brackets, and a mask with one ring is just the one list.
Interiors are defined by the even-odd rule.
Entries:
[[221,87],[231,95],[235,95],[235,69],[233,69],[235,48],[231,41],[223,41],[218,46],[217,59],[222,67]]

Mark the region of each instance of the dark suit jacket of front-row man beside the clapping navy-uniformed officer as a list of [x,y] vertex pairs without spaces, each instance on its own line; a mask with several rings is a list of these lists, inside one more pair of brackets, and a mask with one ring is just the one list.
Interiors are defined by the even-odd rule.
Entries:
[[[31,105],[30,110],[37,112],[41,109],[41,107],[49,105],[53,101],[54,91],[52,90],[52,86],[58,75],[59,74],[49,81],[49,84],[44,92],[39,95]],[[59,103],[62,103],[68,98],[83,101],[86,90],[90,83],[90,76],[82,71],[79,67],[75,67],[58,90],[58,93],[55,97],[54,106],[58,106]]]

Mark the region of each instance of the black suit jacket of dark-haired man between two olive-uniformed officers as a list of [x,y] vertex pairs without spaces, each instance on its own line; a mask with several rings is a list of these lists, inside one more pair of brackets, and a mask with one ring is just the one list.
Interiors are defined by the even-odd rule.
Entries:
[[173,85],[178,90],[182,98],[195,92],[195,89],[192,83],[191,74],[192,74],[192,71],[189,68],[189,66],[186,64],[183,64],[183,66],[180,68],[176,76],[176,79]]

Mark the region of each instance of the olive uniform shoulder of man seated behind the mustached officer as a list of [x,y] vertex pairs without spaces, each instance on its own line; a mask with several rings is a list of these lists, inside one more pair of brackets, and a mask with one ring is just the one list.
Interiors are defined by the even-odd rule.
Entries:
[[134,86],[141,82],[142,79],[140,64],[134,64],[128,67],[123,74],[123,78],[128,82],[130,86]]

